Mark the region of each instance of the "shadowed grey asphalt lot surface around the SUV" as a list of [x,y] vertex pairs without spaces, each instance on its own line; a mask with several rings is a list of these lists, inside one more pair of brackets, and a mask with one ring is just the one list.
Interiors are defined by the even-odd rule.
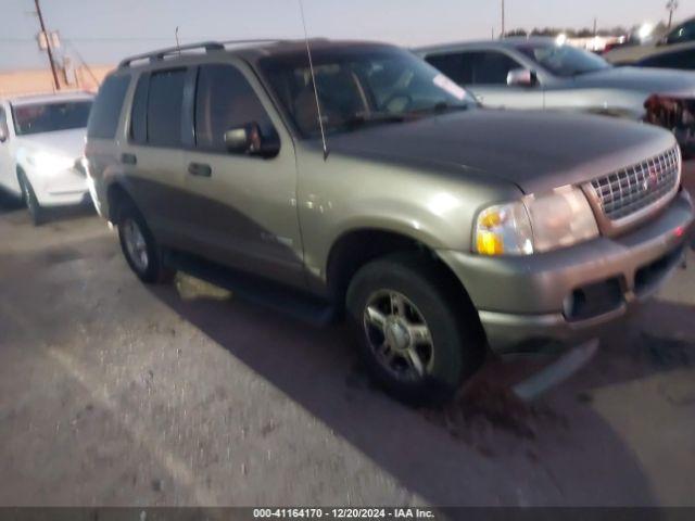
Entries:
[[90,212],[0,201],[0,506],[695,505],[695,258],[532,406],[491,360],[445,410],[317,329],[186,276],[148,288]]

